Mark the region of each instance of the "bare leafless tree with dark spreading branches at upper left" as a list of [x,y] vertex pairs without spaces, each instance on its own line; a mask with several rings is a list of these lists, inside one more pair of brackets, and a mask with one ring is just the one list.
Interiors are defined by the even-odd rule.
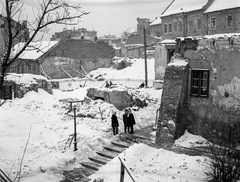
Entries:
[[[0,92],[11,65],[36,39],[37,35],[41,34],[39,40],[42,40],[44,33],[48,32],[49,25],[76,25],[83,15],[89,13],[83,11],[79,4],[71,5],[68,0],[38,0],[36,2],[38,2],[38,7],[32,8],[34,20],[28,21],[26,26],[24,23],[19,23],[26,6],[24,0],[0,0],[0,4],[3,5],[2,14],[7,22],[7,27],[1,29],[4,31],[5,51],[0,55]],[[17,19],[17,21],[14,19]],[[26,29],[28,31],[25,31]],[[29,32],[28,35],[26,35],[27,32]],[[22,46],[18,48],[14,55],[11,54],[12,47],[21,40],[24,41]]]

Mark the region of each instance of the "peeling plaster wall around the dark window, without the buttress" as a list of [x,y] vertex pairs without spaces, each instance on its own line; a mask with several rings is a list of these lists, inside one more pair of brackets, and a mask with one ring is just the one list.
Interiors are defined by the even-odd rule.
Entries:
[[[187,50],[190,69],[210,71],[209,97],[188,93],[188,130],[211,140],[229,140],[229,126],[240,121],[240,38],[201,39],[198,50]],[[189,77],[189,79],[191,79]]]

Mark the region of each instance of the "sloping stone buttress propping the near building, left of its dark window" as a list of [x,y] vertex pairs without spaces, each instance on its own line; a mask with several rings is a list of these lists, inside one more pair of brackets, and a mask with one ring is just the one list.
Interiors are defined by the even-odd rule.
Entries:
[[186,129],[188,64],[166,68],[156,143],[169,147]]

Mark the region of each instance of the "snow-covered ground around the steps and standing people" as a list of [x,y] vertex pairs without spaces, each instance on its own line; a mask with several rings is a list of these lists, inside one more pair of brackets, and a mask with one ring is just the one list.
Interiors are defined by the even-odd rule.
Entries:
[[[126,75],[132,79],[140,77],[142,73],[137,76],[138,71],[144,68],[140,68],[142,64],[138,64],[137,61],[139,60],[135,61],[136,64],[133,64],[131,69],[126,68],[128,71],[115,70],[117,77],[119,79],[126,78]],[[150,65],[149,69],[154,70],[154,64],[151,67]],[[97,71],[100,72],[101,69]],[[111,72],[112,69],[109,68],[102,70],[101,74],[111,78],[115,75],[108,74]],[[149,72],[149,74],[154,73]],[[79,167],[79,162],[93,155],[95,150],[101,150],[103,145],[109,144],[110,139],[116,137],[111,132],[112,110],[117,111],[120,132],[123,131],[123,112],[101,100],[90,100],[90,102],[88,100],[83,104],[77,104],[77,113],[85,116],[77,117],[78,150],[74,152],[73,146],[67,146],[65,149],[66,140],[69,134],[73,133],[74,128],[73,113],[68,113],[67,99],[83,100],[86,89],[87,87],[78,88],[69,92],[53,90],[52,95],[39,89],[38,93],[31,91],[21,99],[4,103],[0,107],[0,168],[14,179],[27,145],[22,161],[21,182],[58,182],[63,179],[64,169]],[[160,104],[162,90],[148,88],[138,91],[143,95],[150,95],[157,101],[133,112],[137,123],[135,129],[143,131],[155,123],[156,109]],[[103,119],[99,108],[103,113]],[[155,132],[151,132],[150,135],[154,139]],[[186,132],[175,145],[189,146],[204,143],[203,141],[205,140],[201,137]],[[190,182],[205,179],[203,170],[207,158],[204,157],[176,154],[145,144],[133,145],[120,154],[120,157],[137,181]],[[105,179],[104,182],[119,181],[119,170],[119,159],[115,158],[91,176],[91,179],[100,177]],[[125,181],[131,181],[127,174]]]

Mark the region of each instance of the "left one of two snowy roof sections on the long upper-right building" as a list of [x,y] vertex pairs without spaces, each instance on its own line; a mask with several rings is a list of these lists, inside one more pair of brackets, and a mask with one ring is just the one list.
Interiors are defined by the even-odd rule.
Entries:
[[208,0],[173,0],[161,17],[200,10],[207,2]]

